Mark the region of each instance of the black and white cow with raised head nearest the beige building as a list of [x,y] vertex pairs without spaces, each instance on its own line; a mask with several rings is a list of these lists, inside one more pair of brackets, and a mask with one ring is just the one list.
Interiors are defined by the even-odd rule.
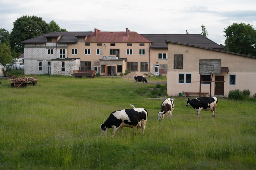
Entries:
[[206,111],[211,110],[212,117],[215,117],[217,103],[218,103],[217,97],[200,97],[192,100],[189,100],[188,98],[186,106],[192,106],[197,111],[197,119],[198,119],[198,116],[199,118],[201,118],[200,116],[201,110],[206,110]]

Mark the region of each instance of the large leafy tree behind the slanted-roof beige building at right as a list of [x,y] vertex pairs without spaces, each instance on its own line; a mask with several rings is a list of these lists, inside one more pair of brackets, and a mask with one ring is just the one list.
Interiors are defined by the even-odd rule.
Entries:
[[228,51],[256,56],[256,31],[250,24],[233,23],[224,28]]

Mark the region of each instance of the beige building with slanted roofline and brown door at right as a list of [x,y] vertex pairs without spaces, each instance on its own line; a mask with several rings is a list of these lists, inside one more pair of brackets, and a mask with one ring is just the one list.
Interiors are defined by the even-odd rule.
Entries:
[[[256,57],[189,44],[166,41],[168,44],[168,95],[178,96],[180,92],[195,92],[198,96],[199,60],[220,59],[221,74],[213,74],[212,95],[228,96],[229,90],[249,89],[256,93]],[[202,81],[210,81],[210,75],[202,75]],[[201,92],[210,92],[210,84],[202,84]],[[208,96],[207,94],[206,96]]]

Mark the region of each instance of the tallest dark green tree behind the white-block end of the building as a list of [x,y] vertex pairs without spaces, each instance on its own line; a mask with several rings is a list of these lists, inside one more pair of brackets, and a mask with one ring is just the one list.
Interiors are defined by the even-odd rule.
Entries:
[[10,34],[11,48],[16,52],[24,53],[24,45],[21,41],[28,40],[48,32],[48,24],[40,17],[26,16],[18,18],[13,22],[13,29]]

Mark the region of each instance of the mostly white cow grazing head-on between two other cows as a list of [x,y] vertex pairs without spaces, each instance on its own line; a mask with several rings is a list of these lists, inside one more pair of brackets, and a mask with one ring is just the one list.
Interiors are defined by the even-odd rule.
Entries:
[[169,113],[169,118],[172,119],[172,111],[174,109],[174,101],[170,98],[162,102],[162,110],[158,112],[158,120],[164,119],[164,115]]

